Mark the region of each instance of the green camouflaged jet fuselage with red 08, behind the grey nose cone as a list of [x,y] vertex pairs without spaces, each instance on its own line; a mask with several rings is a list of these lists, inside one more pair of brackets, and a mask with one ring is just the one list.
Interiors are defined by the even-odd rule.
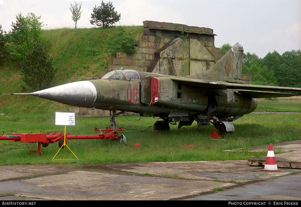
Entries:
[[[122,72],[122,71],[119,71]],[[212,111],[218,118],[241,116],[256,109],[256,99],[235,93],[235,90],[210,90],[173,81],[170,76],[139,72],[140,79],[100,79],[90,81],[97,91],[92,107],[104,110],[133,111],[139,114],[168,116],[171,111],[194,116]],[[157,78],[158,97],[152,102],[151,79]],[[209,108],[208,108],[209,107]],[[209,114],[208,114],[209,115]]]

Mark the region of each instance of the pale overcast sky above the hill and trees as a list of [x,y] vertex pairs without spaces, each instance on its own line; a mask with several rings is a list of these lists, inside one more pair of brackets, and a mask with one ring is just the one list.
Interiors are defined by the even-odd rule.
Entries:
[[[78,28],[90,24],[91,13],[101,1],[82,0]],[[108,2],[105,0],[104,2]],[[300,0],[112,0],[121,13],[116,25],[143,25],[144,20],[209,27],[217,35],[215,46],[239,42],[245,52],[264,57],[268,52],[301,48]],[[41,16],[43,29],[74,28],[68,0],[0,0],[0,24],[11,30],[16,15],[32,12]]]

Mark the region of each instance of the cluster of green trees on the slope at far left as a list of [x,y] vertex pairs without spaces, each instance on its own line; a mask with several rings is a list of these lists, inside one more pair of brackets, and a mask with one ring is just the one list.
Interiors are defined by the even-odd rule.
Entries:
[[33,13],[26,16],[20,13],[8,33],[0,25],[0,58],[10,56],[20,60],[22,80],[35,90],[47,88],[57,72],[40,38],[43,26],[40,19]]

